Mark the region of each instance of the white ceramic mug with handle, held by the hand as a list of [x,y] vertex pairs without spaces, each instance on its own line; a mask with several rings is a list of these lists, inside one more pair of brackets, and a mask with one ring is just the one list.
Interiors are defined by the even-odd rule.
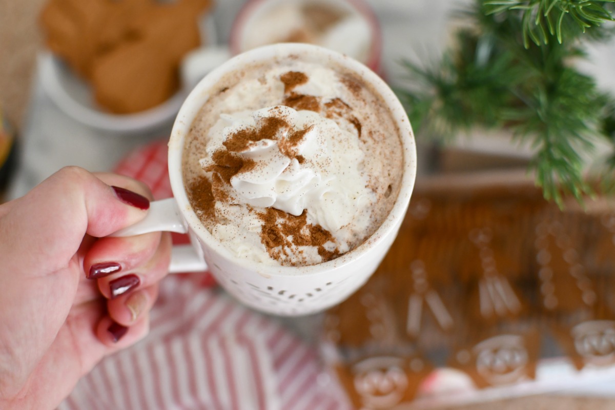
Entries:
[[[237,258],[200,223],[188,202],[181,171],[186,135],[199,109],[225,74],[260,61],[298,56],[323,65],[341,66],[371,84],[388,104],[399,128],[403,148],[402,184],[394,207],[384,223],[362,245],[339,258],[311,266],[269,266]],[[169,140],[169,177],[174,197],[153,202],[141,223],[120,235],[151,231],[188,232],[192,245],[175,248],[171,270],[208,269],[218,283],[239,301],[254,309],[277,315],[305,315],[327,309],[346,299],[363,285],[389,250],[410,202],[416,176],[413,132],[402,104],[371,69],[349,57],[309,44],[274,44],[237,55],[210,72],[190,93],[173,125]]]

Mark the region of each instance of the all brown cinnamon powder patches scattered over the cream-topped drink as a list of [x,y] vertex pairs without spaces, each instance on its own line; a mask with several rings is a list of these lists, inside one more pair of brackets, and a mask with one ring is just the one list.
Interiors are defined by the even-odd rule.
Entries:
[[[345,101],[333,98],[325,103],[322,98],[294,92],[296,87],[309,81],[309,77],[299,71],[282,74],[280,81],[284,84],[285,94],[282,104],[298,111],[309,110],[319,113],[322,111],[322,114],[330,119],[345,118],[357,129],[360,138],[362,124],[352,115],[352,108]],[[362,86],[351,79],[343,79],[343,83],[352,93],[362,92]],[[270,114],[270,117],[258,120],[256,128],[245,128],[229,135],[223,142],[224,148],[213,152],[213,164],[205,168],[205,171],[212,172],[211,180],[199,178],[192,182],[189,189],[191,203],[195,210],[206,218],[216,218],[214,207],[216,201],[232,203],[236,200],[229,193],[233,176],[259,166],[254,160],[244,159],[239,155],[240,152],[249,149],[253,143],[274,140],[284,156],[295,158],[300,164],[306,162],[306,159],[299,155],[298,146],[314,125],[295,131],[285,120],[282,112],[277,114],[270,112]],[[301,260],[305,258],[302,256],[304,252],[298,249],[301,246],[314,247],[322,262],[335,259],[341,254],[331,232],[319,224],[308,223],[306,210],[299,216],[276,208],[265,208],[261,211],[249,207],[248,211],[252,215],[257,215],[263,223],[260,240],[269,256],[283,265],[296,266],[304,263]]]

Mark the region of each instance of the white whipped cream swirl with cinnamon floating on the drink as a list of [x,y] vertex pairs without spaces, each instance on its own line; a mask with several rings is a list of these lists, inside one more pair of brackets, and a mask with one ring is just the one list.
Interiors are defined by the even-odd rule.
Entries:
[[[317,112],[283,105],[223,114],[209,132],[200,165],[211,170],[216,152],[232,152],[244,166],[230,178],[229,203],[295,216],[306,210],[308,222],[331,232],[344,252],[355,236],[349,226],[367,227],[375,201],[362,172],[358,135],[352,134]],[[242,140],[245,135],[258,138]]]

